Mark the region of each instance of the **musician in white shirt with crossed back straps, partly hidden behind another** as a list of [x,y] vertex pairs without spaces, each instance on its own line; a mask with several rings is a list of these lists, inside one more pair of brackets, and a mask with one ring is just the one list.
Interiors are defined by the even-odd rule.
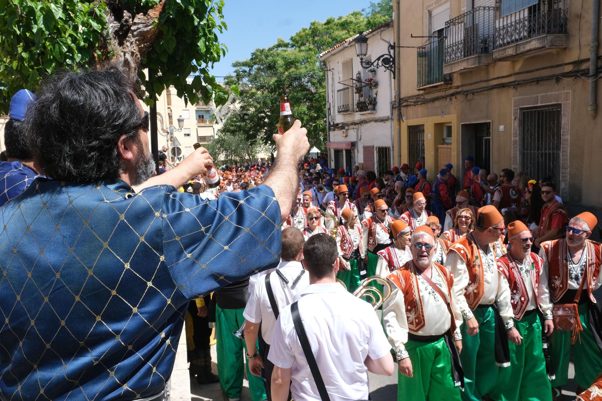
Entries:
[[[255,376],[263,376],[268,400],[272,399],[270,382],[274,364],[267,359],[267,355],[272,344],[276,317],[282,308],[291,304],[294,297],[309,286],[309,275],[301,265],[304,243],[305,237],[296,228],[288,227],[282,231],[282,262],[275,271],[259,278],[243,312],[246,319],[244,341],[247,344],[249,370]],[[275,309],[268,296],[268,284],[272,290]],[[256,344],[260,324],[258,350]],[[259,369],[260,367],[263,369]]]

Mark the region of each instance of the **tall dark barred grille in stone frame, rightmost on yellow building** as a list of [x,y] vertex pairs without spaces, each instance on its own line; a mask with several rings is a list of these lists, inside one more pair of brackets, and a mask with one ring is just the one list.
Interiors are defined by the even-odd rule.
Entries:
[[560,105],[521,111],[521,170],[535,180],[560,182]]

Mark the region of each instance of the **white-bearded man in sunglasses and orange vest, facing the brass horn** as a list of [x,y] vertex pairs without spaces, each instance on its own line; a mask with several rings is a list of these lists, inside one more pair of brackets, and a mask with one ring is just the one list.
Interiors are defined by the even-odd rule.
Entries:
[[395,349],[398,400],[461,400],[462,313],[450,271],[433,263],[435,238],[426,225],[412,234],[411,260],[387,276],[391,295],[383,322]]

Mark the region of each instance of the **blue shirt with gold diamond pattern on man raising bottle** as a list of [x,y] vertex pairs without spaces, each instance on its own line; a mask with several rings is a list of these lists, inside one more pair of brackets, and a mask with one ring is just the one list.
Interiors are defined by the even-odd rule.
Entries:
[[188,302],[280,259],[265,185],[205,201],[38,179],[0,219],[0,399],[161,393]]

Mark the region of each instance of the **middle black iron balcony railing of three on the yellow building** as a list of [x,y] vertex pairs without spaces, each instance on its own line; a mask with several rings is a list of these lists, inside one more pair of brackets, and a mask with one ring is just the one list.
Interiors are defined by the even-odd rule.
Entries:
[[477,7],[445,22],[445,61],[492,54],[495,7]]

